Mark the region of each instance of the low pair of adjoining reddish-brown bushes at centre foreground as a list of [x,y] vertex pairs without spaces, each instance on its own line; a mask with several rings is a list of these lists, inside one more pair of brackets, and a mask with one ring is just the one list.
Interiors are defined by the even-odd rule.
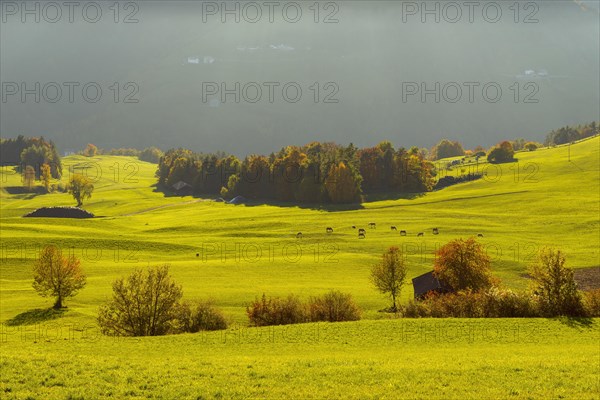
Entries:
[[311,297],[307,303],[293,294],[267,298],[263,293],[246,307],[246,313],[253,326],[356,321],[361,314],[351,295],[336,290]]

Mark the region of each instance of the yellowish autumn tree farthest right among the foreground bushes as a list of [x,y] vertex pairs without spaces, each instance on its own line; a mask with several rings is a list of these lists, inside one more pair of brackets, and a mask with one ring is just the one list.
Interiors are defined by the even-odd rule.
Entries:
[[563,252],[544,248],[529,267],[531,290],[538,299],[540,311],[549,317],[584,314],[573,270],[565,267],[565,262]]

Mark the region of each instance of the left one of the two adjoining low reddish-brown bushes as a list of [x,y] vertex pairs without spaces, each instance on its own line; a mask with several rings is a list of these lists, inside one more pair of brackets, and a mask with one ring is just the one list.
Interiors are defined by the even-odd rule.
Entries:
[[254,326],[298,324],[309,320],[306,306],[293,294],[285,299],[267,299],[263,293],[260,299],[255,299],[246,307],[246,313]]

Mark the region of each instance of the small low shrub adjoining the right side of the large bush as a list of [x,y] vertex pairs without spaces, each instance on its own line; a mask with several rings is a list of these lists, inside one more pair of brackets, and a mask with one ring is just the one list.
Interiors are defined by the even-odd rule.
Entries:
[[196,333],[227,329],[227,321],[221,310],[209,301],[184,302],[177,310],[178,330]]

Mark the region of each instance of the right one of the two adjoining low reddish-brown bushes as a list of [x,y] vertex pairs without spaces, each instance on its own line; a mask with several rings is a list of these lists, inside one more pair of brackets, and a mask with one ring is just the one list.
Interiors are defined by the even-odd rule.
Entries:
[[309,300],[310,320],[312,322],[358,321],[360,309],[352,295],[332,290],[320,297]]

